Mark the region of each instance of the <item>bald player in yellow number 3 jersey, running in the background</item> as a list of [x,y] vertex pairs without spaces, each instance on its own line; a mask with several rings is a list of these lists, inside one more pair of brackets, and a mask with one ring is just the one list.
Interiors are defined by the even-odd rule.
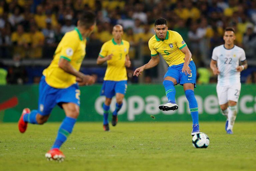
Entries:
[[101,95],[106,96],[103,104],[103,129],[109,131],[108,114],[112,97],[116,95],[116,109],[112,114],[112,125],[117,124],[117,113],[123,105],[123,98],[127,89],[126,67],[131,66],[128,55],[130,44],[122,40],[123,27],[113,27],[113,39],[105,42],[101,47],[97,64],[101,65],[107,61],[107,70],[101,89]]

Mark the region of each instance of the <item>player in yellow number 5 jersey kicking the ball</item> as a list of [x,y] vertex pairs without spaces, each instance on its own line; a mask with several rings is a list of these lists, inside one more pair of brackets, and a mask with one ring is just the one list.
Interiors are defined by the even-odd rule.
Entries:
[[137,68],[134,71],[134,75],[138,77],[145,69],[155,67],[160,61],[160,53],[169,68],[163,81],[168,103],[160,105],[159,109],[163,111],[177,110],[178,105],[175,102],[176,91],[174,86],[177,84],[183,85],[193,121],[191,135],[195,135],[199,133],[199,123],[198,106],[194,95],[196,66],[191,58],[192,55],[181,35],[175,31],[168,30],[166,19],[158,18],[155,21],[154,30],[156,34],[148,42],[151,59],[147,64]]

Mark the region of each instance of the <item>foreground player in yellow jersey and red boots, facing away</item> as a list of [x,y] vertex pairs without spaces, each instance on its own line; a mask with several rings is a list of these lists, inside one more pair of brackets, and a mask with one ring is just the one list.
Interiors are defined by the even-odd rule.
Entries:
[[61,39],[51,64],[43,71],[39,84],[38,109],[25,108],[18,122],[21,133],[27,124],[44,124],[57,104],[66,117],[57,133],[57,138],[45,157],[49,160],[63,161],[65,156],[59,150],[72,132],[79,115],[80,90],[78,85],[93,84],[94,78],[79,72],[85,56],[86,37],[95,28],[96,16],[90,11],[84,12],[77,22],[77,27],[67,32]]

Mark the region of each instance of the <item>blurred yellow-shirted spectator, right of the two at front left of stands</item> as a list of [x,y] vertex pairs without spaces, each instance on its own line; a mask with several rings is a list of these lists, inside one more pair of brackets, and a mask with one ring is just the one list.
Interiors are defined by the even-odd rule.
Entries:
[[41,58],[42,48],[44,45],[44,35],[41,31],[37,29],[36,25],[30,26],[30,36],[31,36],[31,48],[29,51],[30,58]]

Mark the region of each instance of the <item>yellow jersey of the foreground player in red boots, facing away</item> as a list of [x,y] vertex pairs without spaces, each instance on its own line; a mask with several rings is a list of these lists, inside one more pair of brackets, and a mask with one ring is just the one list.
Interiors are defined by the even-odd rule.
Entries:
[[43,71],[48,85],[54,88],[67,88],[76,83],[76,77],[61,69],[58,63],[60,58],[63,58],[79,71],[85,56],[85,45],[86,39],[83,40],[77,28],[64,35],[54,53],[50,66]]

